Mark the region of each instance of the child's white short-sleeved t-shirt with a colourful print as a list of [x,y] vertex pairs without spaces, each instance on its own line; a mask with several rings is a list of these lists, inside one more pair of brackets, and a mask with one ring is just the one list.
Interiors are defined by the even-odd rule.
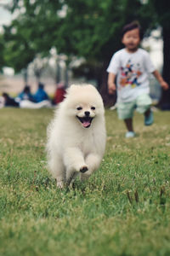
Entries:
[[134,53],[118,50],[111,58],[108,73],[116,74],[117,102],[132,102],[141,94],[149,94],[149,74],[156,70],[144,49]]

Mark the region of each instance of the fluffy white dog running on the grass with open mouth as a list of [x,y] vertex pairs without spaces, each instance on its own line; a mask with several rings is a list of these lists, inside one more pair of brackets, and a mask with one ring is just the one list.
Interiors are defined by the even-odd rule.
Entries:
[[88,178],[105,152],[105,110],[91,84],[71,85],[48,126],[48,166],[57,186]]

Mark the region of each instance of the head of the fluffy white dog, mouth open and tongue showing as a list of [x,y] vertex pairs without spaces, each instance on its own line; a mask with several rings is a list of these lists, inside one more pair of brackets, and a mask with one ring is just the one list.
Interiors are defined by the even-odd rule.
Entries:
[[72,85],[66,96],[67,114],[82,125],[89,128],[94,119],[104,114],[104,106],[99,92],[93,85]]

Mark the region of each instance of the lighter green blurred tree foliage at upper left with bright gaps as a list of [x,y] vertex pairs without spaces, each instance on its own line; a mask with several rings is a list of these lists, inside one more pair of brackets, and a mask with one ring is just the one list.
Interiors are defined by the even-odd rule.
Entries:
[[[58,1],[57,1],[58,2]],[[25,81],[27,79],[27,67],[37,56],[48,55],[54,38],[54,22],[51,19],[53,8],[50,1],[15,0],[12,7],[8,7],[16,18],[9,26],[3,26],[3,38],[5,41],[4,59],[8,67],[13,67],[15,73],[23,71]],[[54,11],[56,14],[56,9]],[[45,15],[48,19],[45,20]],[[51,29],[51,26],[53,29]],[[40,69],[35,66],[34,72],[38,79]]]

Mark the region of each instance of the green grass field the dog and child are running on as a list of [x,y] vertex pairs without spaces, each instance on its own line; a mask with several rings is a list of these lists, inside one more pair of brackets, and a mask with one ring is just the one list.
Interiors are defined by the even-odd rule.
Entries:
[[106,111],[105,158],[86,183],[56,189],[46,168],[53,110],[0,109],[0,255],[170,255],[170,114],[135,114],[125,139]]

